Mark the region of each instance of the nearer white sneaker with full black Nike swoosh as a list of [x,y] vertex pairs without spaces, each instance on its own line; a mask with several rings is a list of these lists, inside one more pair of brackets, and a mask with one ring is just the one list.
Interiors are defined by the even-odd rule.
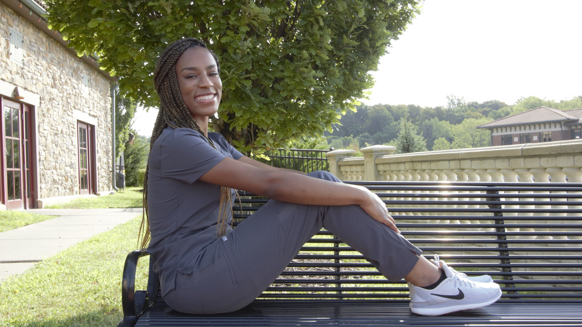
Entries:
[[419,315],[443,315],[449,312],[485,307],[499,300],[501,288],[496,283],[473,282],[439,262],[446,279],[432,290],[411,285],[410,310]]

